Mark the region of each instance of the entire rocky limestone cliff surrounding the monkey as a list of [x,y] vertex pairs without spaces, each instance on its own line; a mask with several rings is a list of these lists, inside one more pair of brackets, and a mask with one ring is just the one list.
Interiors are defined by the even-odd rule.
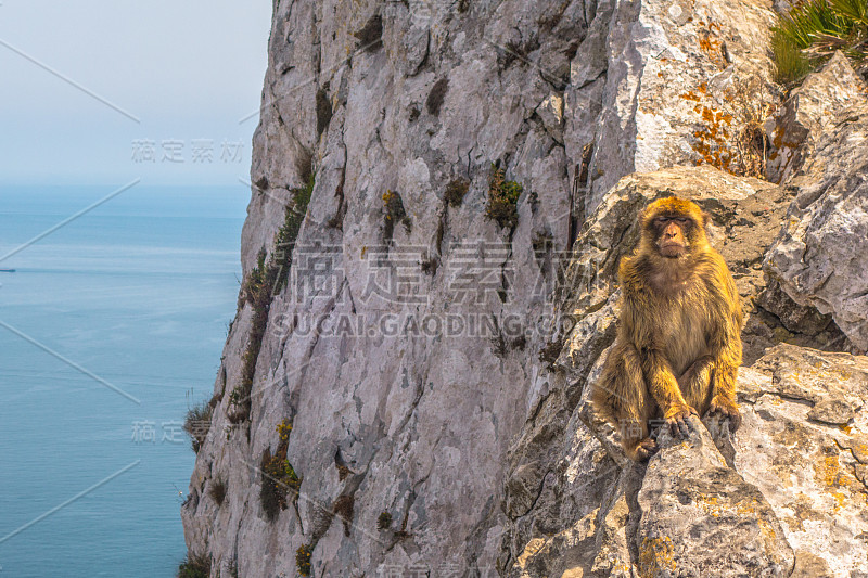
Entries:
[[[276,0],[212,576],[868,576],[868,100],[844,56],[774,85],[774,20]],[[744,299],[744,423],[636,465],[585,398],[669,194]]]

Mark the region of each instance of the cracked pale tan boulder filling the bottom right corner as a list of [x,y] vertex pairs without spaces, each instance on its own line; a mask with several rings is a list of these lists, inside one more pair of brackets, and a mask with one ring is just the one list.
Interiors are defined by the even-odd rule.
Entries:
[[[781,345],[740,378],[735,466],[778,515],[804,576],[861,576],[868,358]],[[861,574],[860,574],[861,573]]]

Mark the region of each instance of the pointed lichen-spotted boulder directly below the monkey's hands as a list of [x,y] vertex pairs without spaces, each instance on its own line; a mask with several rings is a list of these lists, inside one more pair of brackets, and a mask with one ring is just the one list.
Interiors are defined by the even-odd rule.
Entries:
[[794,558],[763,493],[729,467],[697,416],[690,434],[663,431],[638,494],[643,577],[790,576]]

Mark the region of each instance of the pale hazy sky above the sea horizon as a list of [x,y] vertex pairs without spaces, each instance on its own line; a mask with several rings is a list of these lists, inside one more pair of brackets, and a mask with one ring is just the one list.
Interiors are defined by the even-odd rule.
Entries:
[[270,17],[271,0],[0,0],[0,184],[238,184]]

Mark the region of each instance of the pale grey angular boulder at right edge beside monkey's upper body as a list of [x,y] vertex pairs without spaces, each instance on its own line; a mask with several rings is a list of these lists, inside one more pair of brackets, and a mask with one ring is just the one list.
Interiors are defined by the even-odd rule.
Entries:
[[797,195],[765,266],[796,303],[868,349],[868,100],[840,112],[791,181]]

